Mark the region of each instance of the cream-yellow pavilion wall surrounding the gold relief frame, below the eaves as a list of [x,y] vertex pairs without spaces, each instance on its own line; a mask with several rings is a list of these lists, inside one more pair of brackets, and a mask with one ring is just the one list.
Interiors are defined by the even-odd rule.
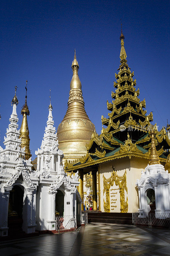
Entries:
[[[103,181],[103,175],[106,179],[111,177],[113,172],[112,166],[115,171],[117,171],[117,175],[123,176],[126,171],[126,176],[123,181],[124,186],[126,182],[126,186],[128,189],[128,193],[125,189],[122,189],[124,194],[124,202],[126,204],[128,197],[128,208],[124,207],[124,212],[136,212],[139,209],[139,200],[138,200],[138,188],[136,187],[136,180],[140,179],[141,171],[144,171],[144,168],[147,166],[148,161],[146,159],[137,158],[137,157],[129,157],[120,158],[113,161],[109,161],[107,163],[100,164],[100,203],[101,203],[101,211],[102,212],[121,212],[121,202],[120,202],[120,187],[118,184],[116,186],[115,182],[113,186],[110,186],[109,193],[107,190],[107,196],[109,195],[109,205],[108,200],[106,198],[106,192],[103,194],[104,186],[106,187],[109,182]],[[113,179],[112,179],[113,180]],[[121,183],[121,180],[120,180]],[[121,185],[121,184],[120,184]],[[107,187],[108,188],[108,187]],[[107,204],[104,209],[104,202]],[[127,206],[127,204],[126,204]],[[109,209],[109,210],[108,210]]]

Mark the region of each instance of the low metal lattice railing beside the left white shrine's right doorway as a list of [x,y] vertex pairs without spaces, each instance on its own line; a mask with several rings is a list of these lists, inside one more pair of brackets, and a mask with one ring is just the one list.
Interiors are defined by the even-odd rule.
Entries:
[[80,226],[87,224],[87,212],[74,215],[56,216],[56,231],[76,231]]

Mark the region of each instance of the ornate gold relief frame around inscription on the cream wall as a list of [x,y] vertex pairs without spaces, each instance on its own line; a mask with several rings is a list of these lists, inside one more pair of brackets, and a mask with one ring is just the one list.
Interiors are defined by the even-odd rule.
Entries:
[[[113,187],[115,186],[118,188]],[[113,188],[111,188],[113,187]],[[106,179],[103,174],[103,195],[106,192],[106,201],[103,199],[104,211],[110,212],[110,210],[115,210],[117,206],[120,205],[120,212],[128,212],[128,197],[125,201],[125,191],[128,193],[128,188],[126,184],[126,171],[122,176],[117,175],[117,172],[113,170],[111,177]],[[120,193],[120,204],[118,202],[118,191]],[[111,193],[110,193],[111,192]],[[117,209],[117,212],[119,210]]]

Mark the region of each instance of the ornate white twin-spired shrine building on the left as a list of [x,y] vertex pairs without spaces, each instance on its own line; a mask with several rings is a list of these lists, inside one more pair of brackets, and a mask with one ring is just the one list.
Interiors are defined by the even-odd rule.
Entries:
[[32,170],[31,158],[25,159],[25,148],[21,148],[18,138],[16,88],[11,103],[5,148],[0,147],[0,236],[19,229],[26,233],[54,231],[56,214],[73,216],[81,212],[78,173],[70,178],[63,170],[63,151],[58,148],[51,102],[41,148],[35,152],[37,170]]

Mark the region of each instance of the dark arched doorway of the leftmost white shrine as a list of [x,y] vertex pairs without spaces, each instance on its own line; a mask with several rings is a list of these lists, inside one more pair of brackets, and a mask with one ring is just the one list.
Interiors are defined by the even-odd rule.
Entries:
[[24,192],[20,186],[15,185],[10,191],[8,206],[8,234],[15,235],[22,231],[22,210]]

